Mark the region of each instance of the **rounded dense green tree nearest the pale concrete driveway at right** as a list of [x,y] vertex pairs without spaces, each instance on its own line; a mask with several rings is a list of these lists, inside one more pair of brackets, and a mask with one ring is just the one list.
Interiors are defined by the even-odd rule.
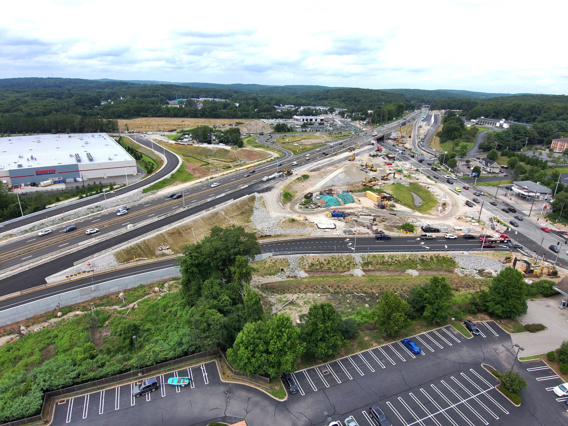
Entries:
[[501,318],[515,318],[527,310],[527,284],[523,274],[504,268],[492,280],[487,293],[487,312]]

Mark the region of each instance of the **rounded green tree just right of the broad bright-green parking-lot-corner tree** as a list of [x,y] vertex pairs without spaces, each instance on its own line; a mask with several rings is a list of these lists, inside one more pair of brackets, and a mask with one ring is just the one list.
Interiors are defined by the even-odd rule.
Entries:
[[306,351],[324,360],[333,357],[345,344],[339,314],[330,302],[315,303],[310,307],[300,336],[306,342]]

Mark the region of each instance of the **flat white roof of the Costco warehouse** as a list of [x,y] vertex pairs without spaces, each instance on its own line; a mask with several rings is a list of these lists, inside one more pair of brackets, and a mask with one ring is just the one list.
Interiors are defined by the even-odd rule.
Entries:
[[106,133],[0,138],[0,170],[133,160]]

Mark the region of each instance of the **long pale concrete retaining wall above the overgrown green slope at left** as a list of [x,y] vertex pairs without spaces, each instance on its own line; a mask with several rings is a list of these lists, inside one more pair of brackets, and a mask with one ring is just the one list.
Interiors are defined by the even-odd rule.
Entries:
[[125,276],[104,283],[94,284],[82,288],[73,289],[65,293],[44,297],[44,299],[35,300],[23,305],[0,311],[0,326],[11,324],[12,322],[22,321],[34,315],[53,311],[57,309],[59,303],[60,308],[94,297],[104,296],[108,293],[120,292],[127,288],[141,286],[143,284],[151,284],[164,279],[179,278],[181,272],[179,267],[172,266],[156,271],[143,272],[142,274]]

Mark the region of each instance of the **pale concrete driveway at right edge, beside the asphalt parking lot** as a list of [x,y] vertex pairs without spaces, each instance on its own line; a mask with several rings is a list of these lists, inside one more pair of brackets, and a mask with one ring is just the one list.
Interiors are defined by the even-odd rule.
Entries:
[[518,317],[523,324],[544,324],[548,330],[538,333],[511,334],[513,344],[519,344],[525,350],[521,357],[544,354],[558,349],[562,341],[568,340],[568,312],[558,309],[565,295],[548,297],[542,300],[529,300],[525,315]]

